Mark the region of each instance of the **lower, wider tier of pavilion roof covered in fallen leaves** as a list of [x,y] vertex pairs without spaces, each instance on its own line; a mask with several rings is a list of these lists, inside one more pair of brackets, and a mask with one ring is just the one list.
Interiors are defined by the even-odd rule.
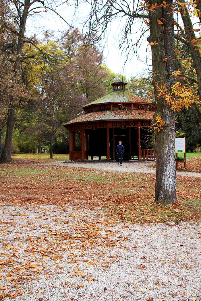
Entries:
[[147,110],[108,110],[91,112],[80,115],[79,117],[64,124],[67,126],[72,123],[99,121],[99,120],[153,120],[154,112]]

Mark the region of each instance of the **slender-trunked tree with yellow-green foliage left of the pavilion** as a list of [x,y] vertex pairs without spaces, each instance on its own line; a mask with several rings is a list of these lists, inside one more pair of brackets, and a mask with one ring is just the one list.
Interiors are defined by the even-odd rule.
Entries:
[[52,158],[53,138],[63,122],[64,106],[68,107],[73,94],[74,67],[55,41],[38,44],[37,50],[33,48],[30,51],[27,82],[36,91],[38,138],[39,141],[42,138],[49,140]]

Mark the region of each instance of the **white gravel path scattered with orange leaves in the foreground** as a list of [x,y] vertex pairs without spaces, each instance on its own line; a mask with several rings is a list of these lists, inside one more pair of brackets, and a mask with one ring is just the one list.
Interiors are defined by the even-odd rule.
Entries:
[[201,300],[201,224],[118,223],[80,202],[0,214],[0,294],[16,301]]

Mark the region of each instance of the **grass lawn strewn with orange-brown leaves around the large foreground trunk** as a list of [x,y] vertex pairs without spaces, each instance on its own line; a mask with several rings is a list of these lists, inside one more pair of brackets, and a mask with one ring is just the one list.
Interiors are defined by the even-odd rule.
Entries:
[[[187,166],[199,169],[201,154],[187,155]],[[111,218],[136,223],[200,221],[200,178],[177,176],[177,203],[154,200],[155,175],[52,166],[66,155],[16,154],[0,165],[0,204],[29,206],[73,204],[103,210]],[[182,169],[182,168],[181,168]],[[193,170],[191,170],[193,171]]]

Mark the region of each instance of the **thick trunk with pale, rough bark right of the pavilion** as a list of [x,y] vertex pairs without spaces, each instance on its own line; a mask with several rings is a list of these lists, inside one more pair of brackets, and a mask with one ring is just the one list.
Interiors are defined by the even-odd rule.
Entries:
[[[176,197],[176,166],[175,166],[175,113],[166,103],[165,98],[157,96],[155,85],[166,85],[168,92],[174,85],[174,19],[171,13],[172,1],[150,1],[158,6],[149,11],[150,37],[149,42],[155,42],[152,48],[153,85],[155,89],[155,117],[161,116],[165,124],[156,130],[156,182],[155,199],[164,205],[177,201]],[[161,7],[159,5],[162,5]],[[169,14],[168,14],[169,13]],[[159,24],[160,20],[162,24]],[[158,44],[157,44],[158,43]],[[164,61],[165,60],[165,61]]]

